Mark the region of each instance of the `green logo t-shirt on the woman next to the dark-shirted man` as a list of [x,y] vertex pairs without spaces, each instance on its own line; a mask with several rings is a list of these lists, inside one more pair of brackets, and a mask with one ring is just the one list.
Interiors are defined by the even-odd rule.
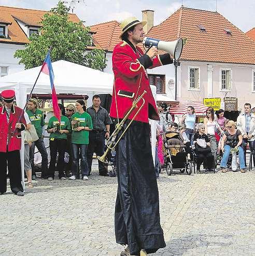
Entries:
[[[71,117],[71,121],[72,120],[77,120],[79,122],[79,126],[84,126],[84,127],[87,126],[90,129],[93,129],[91,116],[87,112],[84,112],[82,114],[77,112],[77,113],[73,114]],[[89,144],[89,131],[86,131],[86,130],[74,131],[74,130],[72,130],[72,143]]]

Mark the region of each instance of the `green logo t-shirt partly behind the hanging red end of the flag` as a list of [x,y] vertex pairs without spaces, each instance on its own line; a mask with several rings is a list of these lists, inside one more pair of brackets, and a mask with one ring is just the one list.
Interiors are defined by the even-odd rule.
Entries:
[[[68,130],[68,131],[71,130],[70,121],[66,116],[61,116],[60,122],[61,122],[61,125],[60,125],[61,130]],[[58,118],[56,118],[55,116],[52,116],[49,120],[47,130],[56,127],[57,124],[59,124]],[[66,140],[67,139],[67,133],[51,132],[50,133],[50,140],[54,140],[54,139]]]

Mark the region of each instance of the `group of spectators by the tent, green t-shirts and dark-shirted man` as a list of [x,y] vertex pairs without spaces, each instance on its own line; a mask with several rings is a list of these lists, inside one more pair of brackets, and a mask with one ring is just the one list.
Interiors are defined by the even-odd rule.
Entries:
[[[60,121],[56,116],[49,119],[47,132],[49,135],[50,164],[48,167],[48,154],[44,143],[45,120],[43,112],[38,109],[36,99],[30,99],[25,112],[26,129],[34,125],[38,139],[25,143],[24,169],[28,186],[33,187],[32,180],[36,179],[34,166],[35,146],[41,154],[41,178],[54,180],[58,171],[60,180],[89,180],[93,153],[103,155],[105,139],[109,138],[111,118],[101,106],[99,95],[92,98],[92,106],[86,110],[83,100],[65,107],[59,104]],[[99,175],[108,176],[105,164],[98,161]]]

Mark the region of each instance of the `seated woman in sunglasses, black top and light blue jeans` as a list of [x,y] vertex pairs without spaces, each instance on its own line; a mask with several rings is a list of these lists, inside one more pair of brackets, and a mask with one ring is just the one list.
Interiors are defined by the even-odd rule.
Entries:
[[243,136],[239,130],[236,129],[236,124],[234,121],[230,120],[226,128],[228,131],[225,131],[223,138],[221,140],[221,150],[223,152],[223,157],[220,163],[221,171],[226,172],[226,164],[230,155],[231,149],[238,149],[238,156],[240,161],[240,170],[241,172],[245,171],[245,160],[244,160],[244,150],[240,146],[243,142]]

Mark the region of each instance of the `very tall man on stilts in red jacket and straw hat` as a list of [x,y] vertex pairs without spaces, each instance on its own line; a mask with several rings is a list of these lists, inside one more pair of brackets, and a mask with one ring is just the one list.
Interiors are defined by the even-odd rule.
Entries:
[[[168,53],[158,55],[154,47],[144,52],[137,46],[143,42],[146,22],[135,17],[121,23],[122,41],[112,54],[115,75],[110,115],[123,118],[133,101],[144,91],[145,104],[127,129],[116,149],[118,194],[115,208],[116,241],[128,245],[121,256],[147,255],[164,248],[160,225],[159,192],[150,144],[148,118],[159,120],[155,100],[146,73],[147,68],[173,63]],[[139,107],[142,100],[138,102]],[[130,123],[137,109],[127,119]]]

